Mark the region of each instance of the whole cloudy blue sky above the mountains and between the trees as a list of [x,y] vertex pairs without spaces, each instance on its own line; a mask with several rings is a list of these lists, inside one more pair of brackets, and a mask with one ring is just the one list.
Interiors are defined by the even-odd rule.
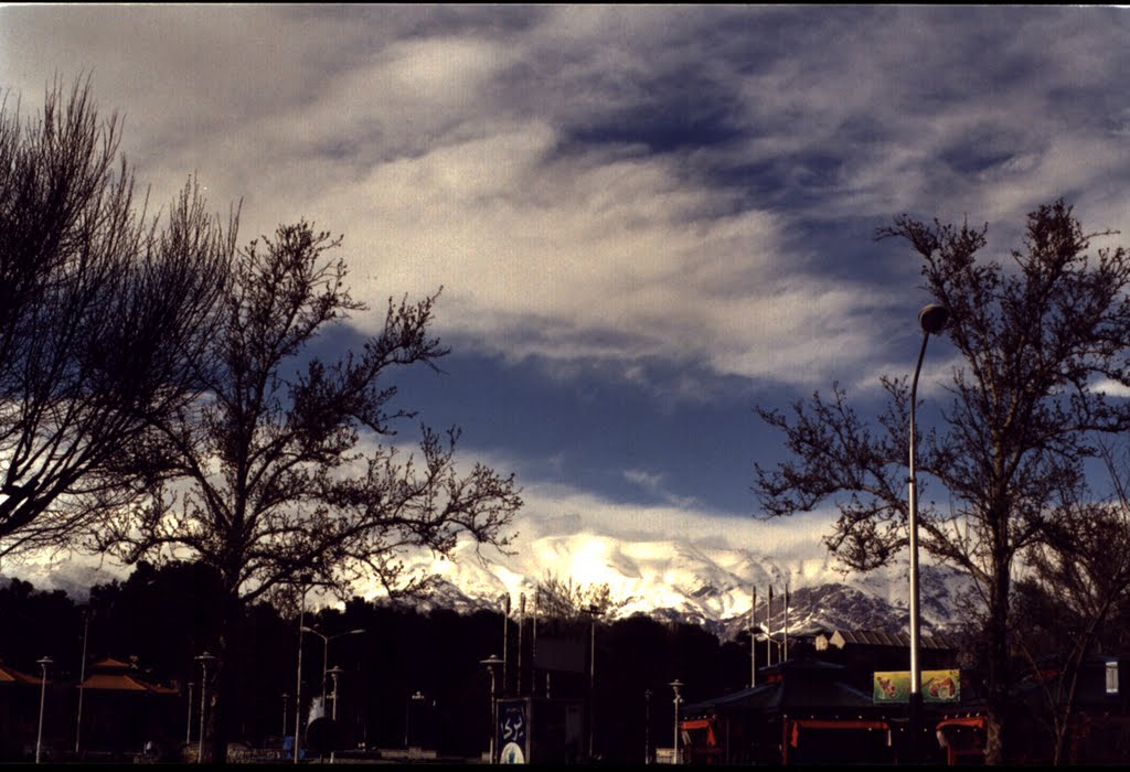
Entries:
[[1130,233],[1128,40],[1111,7],[5,6],[0,89],[89,77],[154,210],[195,175],[241,243],[344,235],[373,312],[327,348],[442,288],[452,353],[401,404],[516,474],[520,530],[772,551],[831,509],[755,518],[754,406],[866,413],[914,366],[930,298],[877,228],[968,218],[1003,255],[1062,196]]

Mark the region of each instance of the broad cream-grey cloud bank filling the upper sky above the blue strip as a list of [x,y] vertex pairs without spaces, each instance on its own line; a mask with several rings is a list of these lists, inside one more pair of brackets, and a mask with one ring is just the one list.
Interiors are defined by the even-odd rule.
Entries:
[[[1015,230],[1074,192],[1102,214],[1080,207],[1088,222],[1128,221],[1111,182],[1130,170],[1124,111],[1075,103],[1116,88],[1121,19],[8,7],[0,70],[31,105],[59,68],[44,52],[66,50],[129,115],[155,204],[197,172],[218,208],[243,200],[245,238],[298,217],[344,233],[356,297],[442,284],[441,332],[461,346],[809,385],[885,358],[876,288],[907,274],[826,275],[843,256],[803,246],[805,222],[911,211]],[[734,138],[657,153],[632,131],[711,111]],[[763,193],[716,178],[750,165]]]

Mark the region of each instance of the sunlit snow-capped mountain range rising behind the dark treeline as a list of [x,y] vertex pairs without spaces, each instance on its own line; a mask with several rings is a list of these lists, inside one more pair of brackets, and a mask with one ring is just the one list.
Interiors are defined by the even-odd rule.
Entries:
[[[906,630],[910,616],[906,561],[868,574],[845,573],[826,552],[783,560],[751,549],[711,547],[675,538],[625,541],[583,530],[527,539],[510,555],[476,556],[464,549],[455,560],[420,558],[416,567],[438,577],[425,607],[498,608],[508,594],[516,614],[524,594],[528,613],[532,613],[536,584],[554,574],[574,585],[608,584],[617,617],[644,613],[693,622],[725,639],[748,630],[755,589],[755,622],[766,624],[771,586],[768,626],[774,632],[785,624],[786,585],[790,631],[896,632]],[[955,609],[967,579],[944,567],[921,570],[923,629],[951,628],[958,622]]]

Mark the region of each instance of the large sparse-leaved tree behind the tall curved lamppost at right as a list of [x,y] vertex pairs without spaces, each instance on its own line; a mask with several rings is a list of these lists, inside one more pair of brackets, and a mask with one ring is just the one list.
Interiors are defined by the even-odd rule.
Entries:
[[[1087,236],[1063,201],[1027,218],[1010,264],[982,260],[986,227],[924,223],[906,216],[879,231],[905,239],[922,260],[927,293],[949,309],[942,333],[960,356],[947,386],[942,427],[919,445],[918,471],[944,490],[944,506],[919,511],[922,547],[973,578],[985,612],[986,761],[1006,758],[1011,570],[1048,536],[1060,493],[1084,480],[1092,432],[1121,432],[1130,404],[1101,384],[1130,386],[1130,257],[1088,254]],[[1103,234],[1105,235],[1105,234]],[[907,543],[905,495],[910,389],[883,378],[886,411],[861,420],[846,394],[815,394],[791,414],[758,409],[793,458],[755,470],[766,516],[806,511],[835,497],[827,538],[851,567],[888,563]],[[921,500],[921,499],[920,499]]]

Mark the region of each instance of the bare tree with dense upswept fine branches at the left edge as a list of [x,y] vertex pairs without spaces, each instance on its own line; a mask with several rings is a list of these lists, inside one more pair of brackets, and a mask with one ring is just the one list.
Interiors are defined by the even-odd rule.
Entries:
[[0,104],[0,556],[56,546],[148,476],[137,447],[195,394],[192,353],[234,254],[192,183],[137,210],[89,84]]

